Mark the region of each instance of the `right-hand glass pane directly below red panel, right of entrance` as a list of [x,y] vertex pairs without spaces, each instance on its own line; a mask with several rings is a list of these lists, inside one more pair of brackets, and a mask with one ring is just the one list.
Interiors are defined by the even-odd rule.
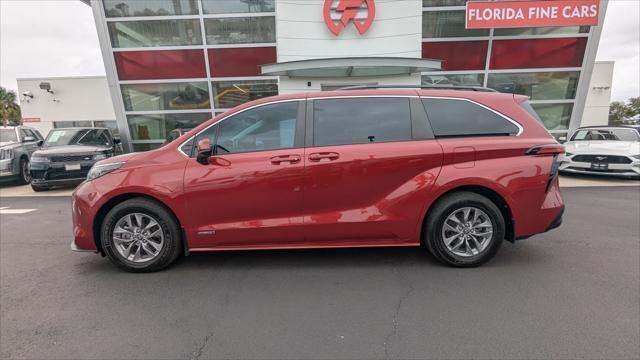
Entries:
[[489,74],[487,87],[531,100],[574,99],[579,78],[579,71]]

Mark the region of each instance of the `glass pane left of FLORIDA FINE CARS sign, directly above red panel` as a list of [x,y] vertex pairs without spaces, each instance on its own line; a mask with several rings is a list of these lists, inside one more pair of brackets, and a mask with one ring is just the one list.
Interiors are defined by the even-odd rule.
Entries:
[[422,37],[446,38],[489,36],[489,29],[466,29],[465,11],[425,11],[422,13]]

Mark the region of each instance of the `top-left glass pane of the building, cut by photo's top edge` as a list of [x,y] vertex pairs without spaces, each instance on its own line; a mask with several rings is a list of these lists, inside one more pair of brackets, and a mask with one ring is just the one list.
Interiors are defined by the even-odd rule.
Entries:
[[107,17],[198,14],[197,0],[104,0]]

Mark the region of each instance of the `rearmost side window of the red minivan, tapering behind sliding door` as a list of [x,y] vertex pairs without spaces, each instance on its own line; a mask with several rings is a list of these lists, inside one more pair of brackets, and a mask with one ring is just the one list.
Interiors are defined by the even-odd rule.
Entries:
[[500,114],[466,100],[422,99],[436,137],[515,135],[520,130]]

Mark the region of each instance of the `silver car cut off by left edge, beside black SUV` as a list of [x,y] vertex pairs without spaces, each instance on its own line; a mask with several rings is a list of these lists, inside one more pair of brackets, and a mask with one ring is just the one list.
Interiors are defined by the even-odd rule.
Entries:
[[0,180],[31,182],[29,161],[31,154],[42,146],[44,138],[27,126],[0,127]]

